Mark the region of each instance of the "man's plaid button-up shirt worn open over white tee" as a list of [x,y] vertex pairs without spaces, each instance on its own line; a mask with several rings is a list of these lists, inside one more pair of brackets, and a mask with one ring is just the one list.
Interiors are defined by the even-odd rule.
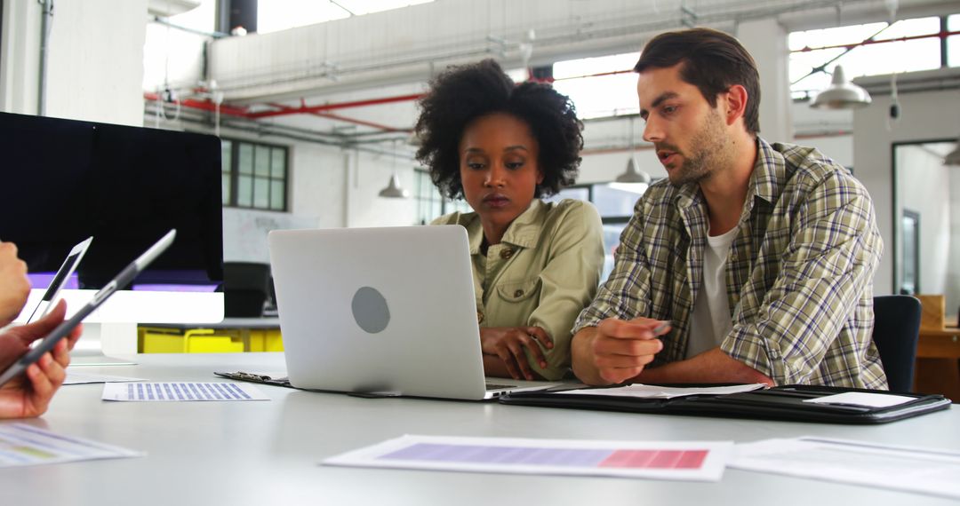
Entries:
[[[777,384],[886,388],[871,337],[883,243],[870,196],[817,150],[756,142],[726,266],[733,328],[720,349]],[[684,359],[708,227],[697,184],[652,185],[574,334],[608,317],[670,320],[652,367]]]

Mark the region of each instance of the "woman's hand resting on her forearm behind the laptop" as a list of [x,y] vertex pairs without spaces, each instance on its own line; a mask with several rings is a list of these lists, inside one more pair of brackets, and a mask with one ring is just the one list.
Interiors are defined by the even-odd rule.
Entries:
[[480,349],[484,355],[499,357],[514,380],[535,380],[523,349],[530,350],[540,367],[547,366],[540,345],[553,348],[553,339],[540,327],[481,327]]

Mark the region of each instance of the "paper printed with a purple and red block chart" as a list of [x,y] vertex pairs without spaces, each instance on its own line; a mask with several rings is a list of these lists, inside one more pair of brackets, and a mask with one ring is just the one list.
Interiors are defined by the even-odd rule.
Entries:
[[327,466],[719,481],[732,442],[636,442],[405,435]]

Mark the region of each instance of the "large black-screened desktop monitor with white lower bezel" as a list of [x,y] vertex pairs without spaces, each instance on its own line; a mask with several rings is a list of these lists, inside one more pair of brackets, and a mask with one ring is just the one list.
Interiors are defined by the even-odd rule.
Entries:
[[212,135],[0,113],[0,240],[16,243],[38,289],[93,236],[67,285],[92,292],[176,228],[176,242],[101,321],[218,321],[220,154]]

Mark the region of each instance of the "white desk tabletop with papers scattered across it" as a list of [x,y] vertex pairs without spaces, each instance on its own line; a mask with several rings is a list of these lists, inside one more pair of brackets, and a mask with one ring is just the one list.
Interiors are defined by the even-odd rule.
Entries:
[[[276,371],[280,354],[141,355],[84,372],[217,380],[214,370]],[[937,497],[728,469],[719,483],[361,470],[324,457],[404,433],[748,442],[806,434],[960,450],[960,409],[885,426],[633,415],[496,403],[358,399],[260,386],[249,403],[105,403],[101,384],[64,386],[32,423],[139,449],[146,457],[0,470],[4,505],[286,504],[955,504]]]

